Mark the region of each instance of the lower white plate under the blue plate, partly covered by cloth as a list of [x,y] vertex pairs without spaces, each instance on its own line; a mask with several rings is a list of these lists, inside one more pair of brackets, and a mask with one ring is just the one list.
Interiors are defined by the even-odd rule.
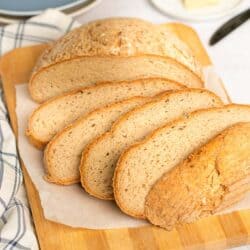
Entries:
[[[1,0],[0,0],[1,1]],[[87,11],[89,11],[90,9],[92,9],[93,7],[95,7],[96,5],[98,5],[102,0],[88,0],[85,1],[84,3],[82,3],[81,5],[74,7],[74,8],[70,8],[65,10],[64,12],[71,16],[71,17],[76,17],[79,16]],[[19,21],[24,21],[27,18],[23,17],[23,16],[1,16],[0,15],[0,24],[11,24],[11,23],[16,23]]]

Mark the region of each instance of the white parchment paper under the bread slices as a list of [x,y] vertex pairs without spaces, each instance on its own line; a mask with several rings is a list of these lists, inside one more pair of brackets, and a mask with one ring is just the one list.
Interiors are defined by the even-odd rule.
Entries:
[[[205,69],[206,87],[217,93],[225,103],[227,94],[212,67]],[[103,201],[88,195],[79,185],[59,186],[43,179],[43,152],[34,148],[25,136],[31,112],[38,106],[29,96],[27,84],[16,86],[18,146],[21,158],[38,190],[44,215],[48,220],[72,227],[110,229],[147,225],[146,221],[123,214],[113,201]],[[224,213],[250,208],[250,194]]]

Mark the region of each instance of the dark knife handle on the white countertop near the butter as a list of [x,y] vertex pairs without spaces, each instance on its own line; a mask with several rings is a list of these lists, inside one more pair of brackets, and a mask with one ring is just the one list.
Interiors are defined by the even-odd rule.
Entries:
[[233,17],[226,23],[224,23],[211,37],[209,44],[214,45],[218,41],[220,41],[223,37],[231,33],[241,24],[246,22],[250,18],[250,9],[245,10],[239,15]]

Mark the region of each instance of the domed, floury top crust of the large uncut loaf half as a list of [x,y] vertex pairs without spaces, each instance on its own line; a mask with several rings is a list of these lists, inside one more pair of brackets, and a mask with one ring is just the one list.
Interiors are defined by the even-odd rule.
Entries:
[[109,18],[81,26],[49,46],[35,72],[79,57],[159,55],[173,58],[202,78],[191,50],[164,25],[135,18]]

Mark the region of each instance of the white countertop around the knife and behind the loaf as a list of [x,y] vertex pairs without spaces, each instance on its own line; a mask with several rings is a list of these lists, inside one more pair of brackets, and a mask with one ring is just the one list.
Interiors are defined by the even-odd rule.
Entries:
[[[250,0],[242,1],[231,16],[247,7],[250,7]],[[77,20],[86,23],[112,16],[139,17],[154,23],[180,21],[160,13],[149,0],[103,0],[97,7],[77,17]],[[211,34],[228,18],[230,16],[186,24],[194,27],[199,33],[233,102],[250,104],[250,22],[241,25],[215,46],[208,46]]]

